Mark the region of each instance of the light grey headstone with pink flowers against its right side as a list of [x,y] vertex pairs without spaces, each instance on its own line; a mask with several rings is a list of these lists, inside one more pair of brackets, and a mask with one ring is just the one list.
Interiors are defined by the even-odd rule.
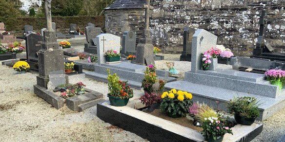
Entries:
[[197,73],[202,68],[202,53],[211,47],[216,47],[218,37],[204,29],[196,30],[192,39],[191,72]]

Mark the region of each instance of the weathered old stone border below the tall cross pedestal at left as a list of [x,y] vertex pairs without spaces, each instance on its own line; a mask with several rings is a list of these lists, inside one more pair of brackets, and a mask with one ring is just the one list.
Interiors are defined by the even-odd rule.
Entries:
[[71,110],[80,112],[87,108],[95,106],[97,104],[96,100],[103,98],[102,93],[86,88],[85,91],[88,93],[64,99],[56,95],[51,90],[40,87],[38,85],[34,85],[34,92],[55,108],[60,109],[64,106],[64,104],[66,104],[66,106]]

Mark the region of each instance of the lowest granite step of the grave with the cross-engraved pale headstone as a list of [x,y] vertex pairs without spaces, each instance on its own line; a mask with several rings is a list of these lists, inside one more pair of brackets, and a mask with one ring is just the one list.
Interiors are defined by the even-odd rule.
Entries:
[[[85,77],[86,78],[92,78],[92,79],[95,79],[95,80],[100,81],[100,82],[108,83],[107,75],[105,75],[105,74],[90,71],[90,72],[85,72]],[[141,82],[133,81],[133,80],[127,80],[124,78],[120,78],[120,80],[127,81],[128,85],[133,89],[142,89],[142,83]]]

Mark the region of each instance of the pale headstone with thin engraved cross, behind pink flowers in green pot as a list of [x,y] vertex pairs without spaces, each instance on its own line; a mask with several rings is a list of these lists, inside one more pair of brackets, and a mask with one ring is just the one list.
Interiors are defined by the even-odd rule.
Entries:
[[104,53],[108,50],[114,50],[120,53],[121,37],[112,34],[101,34],[96,37],[98,63],[105,64]]

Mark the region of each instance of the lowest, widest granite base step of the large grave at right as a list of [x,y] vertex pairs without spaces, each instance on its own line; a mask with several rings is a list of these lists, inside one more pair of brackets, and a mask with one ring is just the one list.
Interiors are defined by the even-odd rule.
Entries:
[[[199,101],[200,103],[205,103],[209,106],[212,106],[215,109],[222,109],[227,111],[226,103],[233,99],[234,97],[243,97],[250,96],[256,97],[261,104],[259,109],[261,115],[258,120],[266,120],[272,116],[275,112],[281,110],[285,107],[285,90],[283,89],[280,96],[276,98],[254,95],[250,93],[230,90],[230,89],[221,89],[212,86],[206,86],[201,84],[195,84],[187,81],[175,81],[165,84],[166,89],[179,89],[183,91],[188,91],[193,94],[194,102]],[[219,104],[217,104],[219,102]],[[218,108],[217,108],[218,106]]]

